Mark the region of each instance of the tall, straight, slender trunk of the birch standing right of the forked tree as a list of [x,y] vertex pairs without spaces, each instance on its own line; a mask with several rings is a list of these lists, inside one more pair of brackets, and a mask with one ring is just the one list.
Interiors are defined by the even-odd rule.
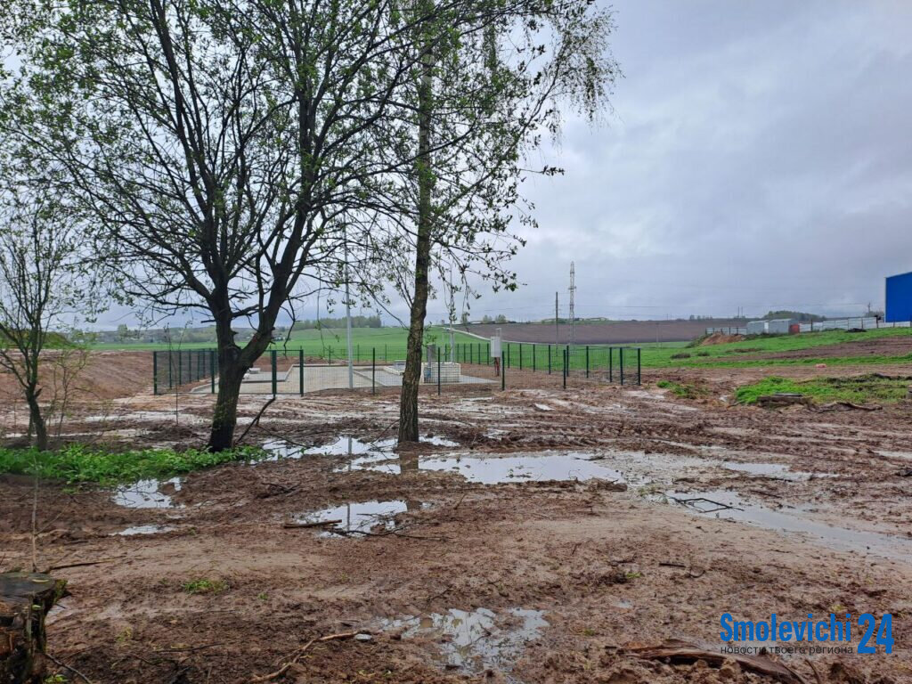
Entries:
[[[430,5],[430,6],[429,6]],[[422,3],[422,13],[433,3]],[[433,57],[430,41],[425,43],[421,57],[421,80],[418,86],[418,239],[415,249],[415,293],[411,302],[409,346],[406,351],[405,372],[402,374],[402,394],[399,398],[399,443],[418,441],[418,390],[421,382],[421,342],[424,338],[424,317],[428,312],[428,271],[430,269],[431,192],[434,178],[430,165],[430,115],[432,109],[431,69]]]

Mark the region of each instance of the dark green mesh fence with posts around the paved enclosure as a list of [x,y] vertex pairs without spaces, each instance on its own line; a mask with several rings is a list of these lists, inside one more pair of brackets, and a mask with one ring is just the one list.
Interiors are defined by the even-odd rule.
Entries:
[[[429,345],[423,352],[423,386],[457,385],[523,387],[547,386],[589,378],[621,385],[638,385],[641,377],[639,347],[601,345],[556,346],[503,343],[502,358],[492,358],[488,342],[460,343],[453,347]],[[377,392],[398,388],[405,370],[406,347],[352,348],[351,368],[344,350],[325,348],[273,349],[257,359],[246,373],[242,394],[297,394],[325,389],[362,389]],[[215,349],[152,352],[153,391],[212,393],[216,391]],[[537,379],[533,379],[537,378]]]

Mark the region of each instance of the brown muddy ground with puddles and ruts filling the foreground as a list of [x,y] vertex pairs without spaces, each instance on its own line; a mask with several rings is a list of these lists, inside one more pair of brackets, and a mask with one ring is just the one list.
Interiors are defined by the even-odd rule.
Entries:
[[[759,377],[428,394],[408,451],[387,441],[395,393],[288,397],[248,437],[275,460],[123,492],[42,483],[36,565],[71,592],[49,650],[92,682],[767,682],[635,649],[719,654],[725,612],[890,613],[891,655],[777,658],[810,684],[912,681],[912,408],[729,404]],[[262,401],[243,400],[243,424]],[[67,430],[198,445],[212,398],[176,406],[125,391]],[[0,482],[0,569],[32,565],[32,501],[29,480]]]

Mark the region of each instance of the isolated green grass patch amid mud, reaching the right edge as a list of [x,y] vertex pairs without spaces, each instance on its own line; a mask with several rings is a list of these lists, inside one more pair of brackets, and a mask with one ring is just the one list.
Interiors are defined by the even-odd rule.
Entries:
[[894,402],[906,399],[908,386],[908,378],[884,378],[879,375],[809,380],[771,376],[739,388],[735,397],[742,404],[753,404],[764,395],[790,392],[810,397],[815,402],[851,401],[863,404],[868,401]]

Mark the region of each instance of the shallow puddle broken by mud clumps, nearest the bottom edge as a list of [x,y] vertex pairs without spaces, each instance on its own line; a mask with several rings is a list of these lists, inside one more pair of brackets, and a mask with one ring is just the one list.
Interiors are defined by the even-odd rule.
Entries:
[[[472,612],[451,608],[425,617],[383,620],[385,630],[404,630],[403,638],[425,637],[440,648],[440,664],[465,674],[486,669],[510,672],[529,641],[548,623],[544,611],[512,608],[498,615],[486,608]],[[507,677],[508,682],[515,679]]]

